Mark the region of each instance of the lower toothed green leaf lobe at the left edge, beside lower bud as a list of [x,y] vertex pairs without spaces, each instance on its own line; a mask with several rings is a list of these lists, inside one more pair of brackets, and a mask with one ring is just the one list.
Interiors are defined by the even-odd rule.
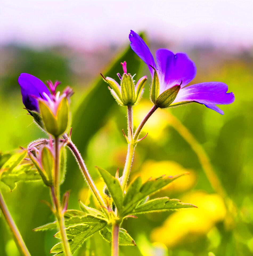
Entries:
[[16,166],[10,173],[4,171],[1,175],[1,181],[9,186],[10,190],[15,189],[19,181],[39,181],[41,177],[36,169],[32,169],[32,164],[23,164]]

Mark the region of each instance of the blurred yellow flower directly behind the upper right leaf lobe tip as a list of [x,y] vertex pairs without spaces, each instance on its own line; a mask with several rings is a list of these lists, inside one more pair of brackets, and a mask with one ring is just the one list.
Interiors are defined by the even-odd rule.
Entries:
[[178,178],[165,187],[165,190],[167,191],[185,192],[190,190],[195,185],[197,180],[196,173],[191,169],[185,169],[183,166],[174,161],[145,161],[140,172],[133,175],[133,178],[141,176],[142,182],[145,182],[150,177],[156,178],[161,175],[174,176],[185,172],[189,172],[189,174]]

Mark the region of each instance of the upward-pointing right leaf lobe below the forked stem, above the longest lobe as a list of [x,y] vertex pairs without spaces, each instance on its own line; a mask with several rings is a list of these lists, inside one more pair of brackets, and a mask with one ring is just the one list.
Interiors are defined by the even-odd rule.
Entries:
[[[156,179],[150,179],[140,186],[140,181],[134,181],[133,185],[130,185],[124,200],[123,215],[128,215],[137,206],[137,204],[163,187],[167,186],[170,182],[188,173],[182,173],[176,176],[161,176]],[[129,194],[129,195],[128,195]]]

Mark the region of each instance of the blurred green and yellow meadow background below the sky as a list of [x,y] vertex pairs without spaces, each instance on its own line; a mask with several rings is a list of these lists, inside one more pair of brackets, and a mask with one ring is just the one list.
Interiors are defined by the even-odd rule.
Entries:
[[[138,20],[141,18],[138,17]],[[187,24],[185,22],[185,27]],[[167,40],[166,33],[157,38],[147,27],[143,27],[153,53],[159,47],[187,52],[197,66],[193,83],[225,82],[229,91],[234,92],[235,102],[221,106],[225,115],[193,103],[158,110],[150,118],[143,131],[143,134],[149,133],[148,137],[136,148],[130,180],[137,175],[145,180],[162,174],[175,175],[189,171],[188,176],[174,182],[158,196],[178,198],[199,208],[128,219],[124,222],[124,228],[137,246],[121,246],[120,255],[204,256],[209,252],[216,256],[252,255],[252,47],[243,46],[243,42],[228,47],[231,45],[201,40],[188,44],[185,38]],[[23,109],[17,83],[19,74],[30,73],[42,81],[58,79],[62,82],[59,89],[67,85],[74,88],[71,102],[72,141],[102,190],[103,183],[95,166],[111,174],[115,174],[117,167],[123,170],[127,144],[121,130],[126,131],[127,122],[126,108],[117,105],[99,73],[116,79],[116,73],[122,73],[120,62],[127,61],[128,72],[136,73],[136,79],[148,75],[149,82],[143,98],[133,110],[135,126],[152,106],[149,101],[149,71],[128,46],[130,29],[132,27],[120,39],[121,44],[111,41],[106,44],[107,37],[102,33],[105,41],[100,47],[94,48],[55,42],[39,47],[36,43],[24,44],[18,40],[2,42],[0,150],[13,151],[46,136]],[[185,127],[187,133],[184,132]],[[192,141],[193,138],[196,141]],[[211,167],[208,163],[207,166],[201,165],[198,156],[205,161],[203,152],[208,155]],[[61,189],[62,192],[71,191],[69,209],[79,209],[78,199],[96,206],[70,152],[67,161],[66,179]],[[221,181],[220,190],[224,190],[226,198],[229,198],[225,200],[226,203],[219,191],[211,186],[205,173],[208,167]],[[0,187],[31,255],[49,255],[51,247],[58,242],[53,237],[54,231],[32,231],[54,219],[48,206],[42,202],[50,201],[47,187],[41,182],[18,183],[12,192],[3,183],[0,183]],[[19,255],[3,218],[0,218],[0,255]],[[96,234],[75,255],[110,255],[110,245]]]

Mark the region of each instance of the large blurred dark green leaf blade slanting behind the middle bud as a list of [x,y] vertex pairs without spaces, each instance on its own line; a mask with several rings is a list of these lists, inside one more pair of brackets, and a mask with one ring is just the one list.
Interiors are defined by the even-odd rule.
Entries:
[[[140,36],[143,37],[143,34],[140,34]],[[97,73],[102,73],[105,77],[116,78],[116,74],[122,71],[120,62],[123,61],[129,63],[127,71],[130,74],[136,73],[136,76],[139,77],[141,74],[140,69],[144,67],[144,63],[130,48],[129,44],[115,56],[111,63],[108,63],[106,70],[98,70]],[[98,75],[88,91],[86,90],[83,93],[76,110],[73,112],[72,127],[75,132],[72,133],[71,139],[81,154],[85,154],[91,138],[108,120],[108,115],[115,106],[117,106],[117,103],[108,90],[107,84]],[[89,125],[85,125],[87,123]],[[69,184],[75,184],[71,188],[73,193],[78,193],[83,187],[83,179],[80,179],[79,169],[73,157],[68,159],[68,168],[73,171],[66,173],[66,179]],[[95,175],[95,173],[92,174]],[[65,185],[63,184],[63,186]]]

